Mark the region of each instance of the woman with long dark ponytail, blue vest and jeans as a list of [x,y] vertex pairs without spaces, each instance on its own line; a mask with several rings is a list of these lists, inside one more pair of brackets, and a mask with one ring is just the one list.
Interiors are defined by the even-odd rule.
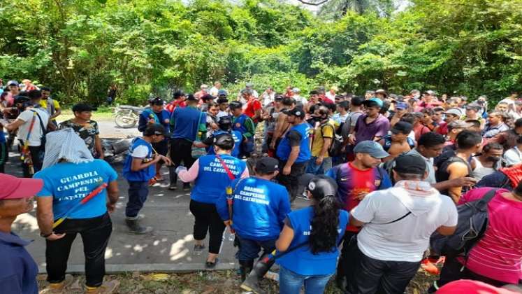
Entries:
[[306,193],[312,206],[288,214],[275,243],[278,251],[289,251],[277,259],[281,294],[298,294],[303,283],[305,294],[324,293],[335,272],[337,246],[348,223],[348,213],[335,197],[333,179],[314,176]]

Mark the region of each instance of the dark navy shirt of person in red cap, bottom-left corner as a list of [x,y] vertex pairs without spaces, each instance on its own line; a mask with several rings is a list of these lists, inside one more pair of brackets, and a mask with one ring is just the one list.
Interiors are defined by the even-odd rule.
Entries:
[[25,246],[31,242],[0,232],[0,293],[38,294],[38,265]]

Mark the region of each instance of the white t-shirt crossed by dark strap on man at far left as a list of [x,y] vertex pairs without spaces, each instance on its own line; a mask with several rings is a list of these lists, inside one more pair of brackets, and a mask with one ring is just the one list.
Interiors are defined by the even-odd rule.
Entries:
[[[49,113],[47,113],[47,111],[45,111],[44,109],[36,108],[22,111],[22,113],[20,113],[17,119],[23,120],[24,124],[18,127],[16,137],[24,141],[24,143],[27,140],[27,133],[29,132],[29,127],[31,126],[31,120],[33,120],[33,111],[36,111],[38,115],[42,118],[42,124],[44,127],[47,127],[49,123]],[[38,116],[35,117],[36,119],[34,120],[33,130],[31,130],[31,134],[29,134],[29,146],[34,147],[41,146],[41,138],[43,134],[40,120],[38,119]]]

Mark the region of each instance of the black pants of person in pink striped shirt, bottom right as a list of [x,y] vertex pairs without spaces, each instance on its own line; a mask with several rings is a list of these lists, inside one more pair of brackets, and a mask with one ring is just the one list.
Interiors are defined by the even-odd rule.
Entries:
[[[495,279],[488,278],[487,276],[481,276],[480,274],[475,274],[474,272],[467,269],[467,267],[463,268],[461,262],[454,257],[446,256],[446,260],[444,261],[444,266],[440,271],[440,278],[438,281],[435,281],[433,286],[428,289],[428,293],[435,293],[438,288],[446,285],[451,281],[456,281],[460,279],[469,279],[475,281],[482,281],[484,283],[488,283],[495,287],[502,287],[507,285],[508,283],[503,281],[498,281]],[[436,286],[435,286],[436,285]]]

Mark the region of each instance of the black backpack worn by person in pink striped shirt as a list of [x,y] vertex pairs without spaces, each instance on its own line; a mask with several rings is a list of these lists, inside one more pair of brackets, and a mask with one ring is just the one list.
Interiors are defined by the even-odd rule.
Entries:
[[488,226],[488,203],[498,189],[492,188],[481,199],[457,207],[458,223],[453,235],[434,232],[430,237],[430,251],[440,255],[458,255],[470,252]]

